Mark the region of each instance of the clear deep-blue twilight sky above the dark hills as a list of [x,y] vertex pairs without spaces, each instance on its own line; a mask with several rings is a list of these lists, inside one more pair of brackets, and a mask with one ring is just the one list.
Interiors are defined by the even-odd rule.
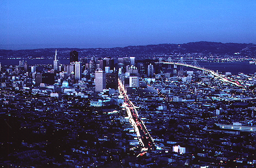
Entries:
[[256,44],[256,0],[0,0],[0,49],[195,41]]

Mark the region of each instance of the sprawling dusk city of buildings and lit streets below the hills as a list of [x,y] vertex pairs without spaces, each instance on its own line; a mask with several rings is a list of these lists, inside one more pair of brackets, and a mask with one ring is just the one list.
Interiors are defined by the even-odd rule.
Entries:
[[0,166],[255,166],[255,60],[58,56],[2,67]]

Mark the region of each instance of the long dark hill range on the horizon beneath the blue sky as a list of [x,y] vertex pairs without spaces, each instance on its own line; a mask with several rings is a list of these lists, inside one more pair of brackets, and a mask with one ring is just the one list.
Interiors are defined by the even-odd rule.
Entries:
[[[218,55],[248,55],[254,57],[256,55],[256,45],[240,44],[240,43],[220,43],[220,42],[189,42],[185,44],[158,44],[147,46],[128,46],[115,48],[57,48],[58,56],[62,59],[69,57],[69,52],[77,50],[79,57],[101,56],[101,57],[117,57],[117,56],[160,56],[173,55],[175,53],[202,53],[202,54],[218,54]],[[26,50],[0,50],[0,58],[53,58],[55,48],[44,49],[26,49]]]

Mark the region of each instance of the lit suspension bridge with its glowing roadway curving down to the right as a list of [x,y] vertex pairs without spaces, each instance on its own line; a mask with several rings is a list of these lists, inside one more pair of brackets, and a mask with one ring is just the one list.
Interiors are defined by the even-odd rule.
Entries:
[[163,58],[159,58],[159,63],[163,63],[163,64],[168,64],[168,65],[179,65],[179,66],[184,66],[184,67],[191,67],[191,68],[195,68],[195,69],[199,69],[205,72],[209,72],[210,74],[216,76],[217,78],[220,78],[222,81],[224,82],[228,82],[231,83],[237,87],[243,87],[243,85],[241,85],[238,81],[230,81],[229,79],[227,79],[225,76],[222,76],[216,72],[214,72],[211,69],[208,68],[204,68],[204,67],[200,67],[200,65],[198,64],[198,62],[196,60],[194,60],[192,62],[192,64],[187,64],[183,58],[181,57],[181,59],[178,62],[174,62],[171,57],[168,58],[168,60],[164,60]]

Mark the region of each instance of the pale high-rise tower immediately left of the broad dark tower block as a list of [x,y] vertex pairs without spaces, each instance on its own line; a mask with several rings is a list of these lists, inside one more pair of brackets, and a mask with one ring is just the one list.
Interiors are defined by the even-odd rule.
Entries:
[[106,88],[106,73],[95,71],[95,92],[102,92]]

